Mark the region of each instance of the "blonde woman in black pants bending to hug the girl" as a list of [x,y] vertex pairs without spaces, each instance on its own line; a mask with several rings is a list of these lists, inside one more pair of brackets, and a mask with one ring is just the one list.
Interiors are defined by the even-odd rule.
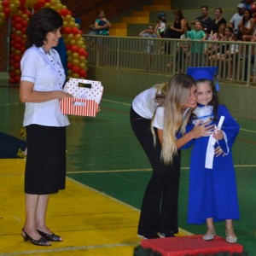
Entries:
[[131,127],[153,169],[143,197],[137,230],[140,237],[171,237],[178,232],[179,148],[212,130],[207,124],[196,125],[185,134],[190,113],[196,107],[195,92],[194,80],[177,74],[166,84],[144,90],[132,102]]

